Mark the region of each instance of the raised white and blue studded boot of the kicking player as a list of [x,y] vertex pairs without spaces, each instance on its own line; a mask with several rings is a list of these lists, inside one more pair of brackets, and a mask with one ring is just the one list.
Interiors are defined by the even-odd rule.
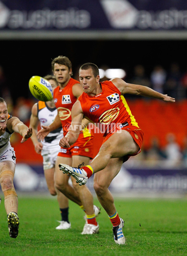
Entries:
[[88,177],[87,173],[82,168],[71,167],[67,164],[59,164],[59,168],[63,173],[69,174],[76,179],[79,185],[85,185]]

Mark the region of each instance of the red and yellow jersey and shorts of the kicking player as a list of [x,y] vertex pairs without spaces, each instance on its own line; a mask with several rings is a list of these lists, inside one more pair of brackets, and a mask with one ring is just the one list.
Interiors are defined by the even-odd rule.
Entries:
[[126,130],[131,134],[141,151],[143,131],[139,128],[124,96],[111,81],[100,82],[100,85],[102,87],[100,94],[90,96],[83,93],[79,96],[78,100],[84,115],[99,127],[103,133],[103,143],[113,133]]

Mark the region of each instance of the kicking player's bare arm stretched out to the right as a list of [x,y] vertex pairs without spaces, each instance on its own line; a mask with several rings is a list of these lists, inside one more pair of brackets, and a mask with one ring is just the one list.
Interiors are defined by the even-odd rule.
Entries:
[[128,93],[128,94],[146,96],[150,98],[156,98],[164,101],[175,102],[175,98],[172,98],[167,94],[161,94],[155,90],[152,90],[147,86],[143,86],[139,84],[129,84],[120,78],[113,78],[111,79],[111,81],[117,87],[117,89],[121,91],[122,95]]

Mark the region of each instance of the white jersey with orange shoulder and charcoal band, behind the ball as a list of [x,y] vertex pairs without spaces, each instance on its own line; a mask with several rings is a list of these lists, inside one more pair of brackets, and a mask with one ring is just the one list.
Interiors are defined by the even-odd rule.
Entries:
[[[46,105],[44,101],[38,101],[37,103],[37,115],[40,121],[40,125],[50,125],[55,116],[58,114],[56,108],[50,108]],[[59,127],[54,131],[51,131],[44,139],[41,141],[43,149],[48,146],[56,146],[59,144],[60,139],[63,137],[63,129]]]

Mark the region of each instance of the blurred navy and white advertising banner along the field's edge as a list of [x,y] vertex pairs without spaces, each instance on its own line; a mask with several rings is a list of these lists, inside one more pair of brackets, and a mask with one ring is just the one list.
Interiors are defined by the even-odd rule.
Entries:
[[[71,179],[69,181],[71,183]],[[86,183],[90,191],[94,193],[93,176]],[[30,166],[25,163],[16,165],[14,186],[22,192],[47,192],[46,180],[42,165]],[[169,194],[173,196],[185,196],[187,192],[187,172],[177,168],[126,168],[122,166],[120,172],[111,182],[109,190],[120,197],[134,194],[146,194],[146,197],[155,194]]]

